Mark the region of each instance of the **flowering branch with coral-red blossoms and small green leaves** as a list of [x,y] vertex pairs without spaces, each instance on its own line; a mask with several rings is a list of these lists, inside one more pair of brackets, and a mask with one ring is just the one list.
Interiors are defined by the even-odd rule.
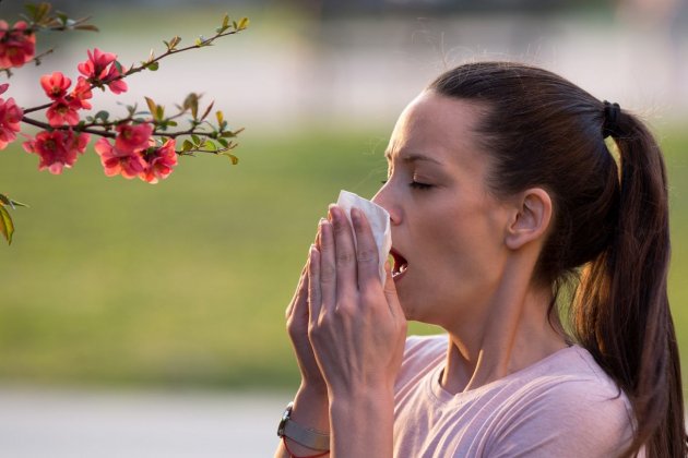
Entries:
[[[21,68],[28,62],[40,64],[40,59],[54,52],[48,49],[36,55],[36,33],[44,31],[94,31],[87,23],[88,17],[71,20],[64,13],[52,12],[47,2],[27,4],[25,21],[16,22],[12,27],[0,20],[0,74],[12,76],[10,69]],[[194,156],[195,153],[223,155],[237,164],[238,158],[230,150],[237,144],[234,138],[242,129],[228,129],[222,111],[215,111],[215,122],[209,121],[213,109],[211,103],[199,114],[200,96],[191,93],[186,96],[177,111],[165,114],[165,107],[145,97],[147,111],[138,111],[137,106],[127,106],[127,116],[110,119],[110,113],[100,110],[94,116],[81,118],[82,110],[91,110],[93,89],[110,91],[119,95],[128,91],[124,79],[143,70],[157,71],[159,62],[173,55],[212,46],[215,40],[235,35],[248,27],[249,21],[239,22],[223,17],[222,24],[210,38],[199,37],[193,45],[179,48],[181,38],[173,37],[163,41],[165,52],[155,57],[153,51],[147,60],[139,65],[124,69],[117,56],[103,52],[98,48],[87,51],[88,59],[79,63],[75,85],[61,72],[52,72],[40,77],[40,86],[50,101],[35,107],[16,105],[12,97],[0,97],[0,149],[16,138],[21,124],[41,129],[35,136],[27,136],[23,143],[27,153],[36,154],[40,160],[38,170],[48,170],[59,174],[71,168],[80,154],[86,149],[91,136],[98,136],[94,144],[100,156],[105,174],[121,174],[127,179],[140,178],[149,183],[156,183],[167,178],[177,166],[177,156]],[[0,95],[9,84],[0,84]],[[71,91],[70,91],[71,88]],[[29,117],[29,113],[44,112],[46,121]],[[186,129],[179,128],[178,120],[185,119]],[[181,145],[178,145],[180,141]],[[8,242],[12,240],[14,226],[8,207],[25,206],[0,194],[0,232]]]

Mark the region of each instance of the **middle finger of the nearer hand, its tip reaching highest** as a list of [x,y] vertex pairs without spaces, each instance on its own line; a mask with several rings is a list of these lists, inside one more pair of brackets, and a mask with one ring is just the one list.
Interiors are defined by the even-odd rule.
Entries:
[[354,232],[344,210],[336,205],[330,207],[334,229],[334,254],[336,267],[336,293],[345,294],[357,287],[356,248]]

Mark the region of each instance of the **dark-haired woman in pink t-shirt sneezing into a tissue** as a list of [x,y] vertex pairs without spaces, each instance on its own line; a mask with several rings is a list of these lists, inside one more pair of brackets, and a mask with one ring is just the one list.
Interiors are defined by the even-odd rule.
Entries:
[[[645,126],[550,72],[481,62],[413,100],[385,156],[394,265],[381,285],[365,216],[355,245],[330,207],[287,309],[303,381],[276,456],[685,456]],[[406,320],[447,335],[406,339]]]

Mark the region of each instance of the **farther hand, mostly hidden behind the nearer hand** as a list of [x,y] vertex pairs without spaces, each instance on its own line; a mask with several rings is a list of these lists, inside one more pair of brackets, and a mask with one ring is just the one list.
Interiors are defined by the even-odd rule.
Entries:
[[[318,243],[318,239],[316,239],[316,243]],[[313,250],[315,248],[311,245],[310,251],[312,252]],[[309,261],[306,262],[306,265],[301,270],[296,292],[286,309],[286,326],[289,338],[292,339],[294,352],[296,353],[298,367],[301,372],[301,388],[307,388],[327,396],[325,382],[320,373],[320,367],[318,367],[318,363],[316,362],[316,357],[308,338],[308,266]]]

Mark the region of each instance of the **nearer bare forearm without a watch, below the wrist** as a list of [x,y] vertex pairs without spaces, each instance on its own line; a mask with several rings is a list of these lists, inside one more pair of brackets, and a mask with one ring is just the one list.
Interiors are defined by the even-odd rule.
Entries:
[[334,458],[391,458],[394,398],[391,389],[366,389],[330,400]]

